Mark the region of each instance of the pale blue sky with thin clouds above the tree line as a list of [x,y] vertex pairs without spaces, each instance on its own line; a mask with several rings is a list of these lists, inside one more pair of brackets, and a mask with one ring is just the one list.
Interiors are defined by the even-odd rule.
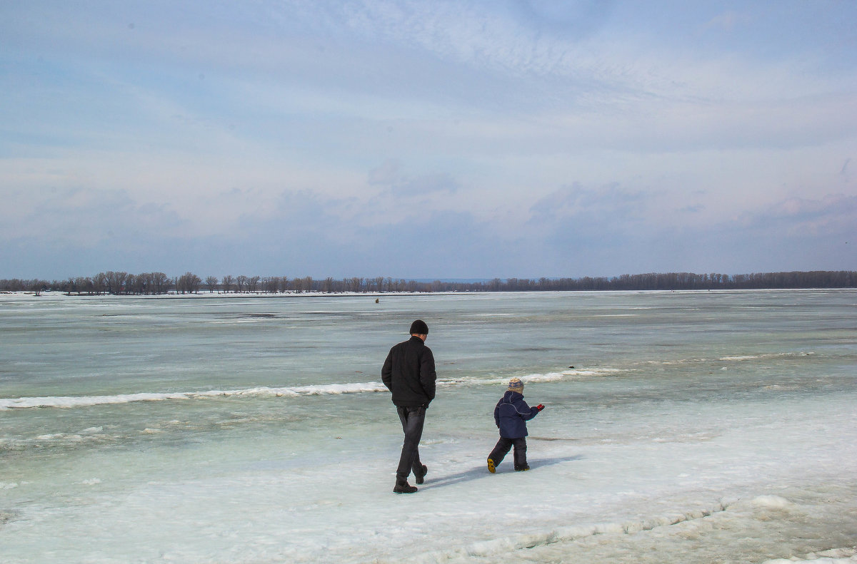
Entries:
[[0,278],[857,270],[857,3],[0,0]]

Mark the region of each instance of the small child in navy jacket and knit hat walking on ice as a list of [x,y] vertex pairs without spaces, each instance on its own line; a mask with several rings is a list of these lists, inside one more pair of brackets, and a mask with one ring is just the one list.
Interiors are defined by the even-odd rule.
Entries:
[[530,407],[524,401],[524,383],[518,378],[509,381],[509,389],[494,407],[494,423],[500,428],[500,440],[488,454],[488,472],[492,474],[503,461],[509,449],[515,448],[515,470],[530,470],[527,465],[527,421],[544,409],[542,404]]

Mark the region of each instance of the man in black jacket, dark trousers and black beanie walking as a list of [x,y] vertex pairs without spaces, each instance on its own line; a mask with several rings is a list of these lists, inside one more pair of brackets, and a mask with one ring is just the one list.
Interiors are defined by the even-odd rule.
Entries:
[[434,355],[425,346],[428,337],[428,325],[422,319],[411,324],[411,338],[400,342],[390,349],[384,367],[381,368],[381,380],[393,392],[393,404],[399,412],[405,442],[399,468],[396,470],[396,485],[393,492],[412,494],[417,488],[408,484],[411,470],[417,478],[417,484],[423,484],[428,467],[420,461],[420,437],[423,436],[423,423],[426,408],[434,400]]

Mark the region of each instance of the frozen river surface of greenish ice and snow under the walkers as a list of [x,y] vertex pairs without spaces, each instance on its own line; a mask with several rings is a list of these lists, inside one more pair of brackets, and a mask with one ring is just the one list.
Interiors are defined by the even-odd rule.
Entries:
[[[855,367],[854,290],[4,294],[0,561],[857,562]],[[492,475],[511,377],[546,409]]]

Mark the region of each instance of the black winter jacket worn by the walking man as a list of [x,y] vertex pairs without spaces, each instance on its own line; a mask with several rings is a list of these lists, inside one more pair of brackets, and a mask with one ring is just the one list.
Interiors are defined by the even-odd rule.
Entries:
[[417,336],[393,346],[381,368],[381,380],[398,407],[428,407],[436,378],[434,354]]

